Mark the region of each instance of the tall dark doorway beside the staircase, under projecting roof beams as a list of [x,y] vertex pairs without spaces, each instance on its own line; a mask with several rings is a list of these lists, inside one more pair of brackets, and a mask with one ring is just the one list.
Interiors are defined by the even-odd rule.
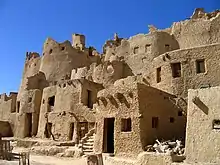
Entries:
[[104,119],[103,152],[114,153],[114,123],[115,118]]

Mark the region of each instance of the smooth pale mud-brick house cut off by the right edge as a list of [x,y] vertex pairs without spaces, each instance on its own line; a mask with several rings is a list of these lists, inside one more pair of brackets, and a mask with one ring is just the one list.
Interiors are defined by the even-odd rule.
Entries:
[[186,161],[220,164],[220,87],[189,90]]

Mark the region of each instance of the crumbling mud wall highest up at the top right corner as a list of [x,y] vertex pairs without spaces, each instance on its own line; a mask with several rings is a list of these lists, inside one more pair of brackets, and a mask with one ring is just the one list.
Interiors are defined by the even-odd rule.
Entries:
[[175,22],[171,27],[171,35],[175,36],[180,49],[220,42],[220,12],[206,13],[202,11],[200,14],[198,11],[195,12],[189,20]]

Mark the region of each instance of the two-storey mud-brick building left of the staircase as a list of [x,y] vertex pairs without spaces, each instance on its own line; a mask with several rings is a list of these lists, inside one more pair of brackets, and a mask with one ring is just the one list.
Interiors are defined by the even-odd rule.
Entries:
[[[95,126],[93,104],[102,85],[85,79],[66,80],[43,90],[38,137],[78,143]],[[49,125],[49,132],[46,129]]]

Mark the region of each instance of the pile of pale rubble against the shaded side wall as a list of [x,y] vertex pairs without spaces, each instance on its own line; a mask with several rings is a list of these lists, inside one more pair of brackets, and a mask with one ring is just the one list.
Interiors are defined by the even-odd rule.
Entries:
[[184,145],[180,140],[165,142],[160,142],[159,140],[156,140],[156,143],[154,145],[146,146],[145,151],[183,155]]

